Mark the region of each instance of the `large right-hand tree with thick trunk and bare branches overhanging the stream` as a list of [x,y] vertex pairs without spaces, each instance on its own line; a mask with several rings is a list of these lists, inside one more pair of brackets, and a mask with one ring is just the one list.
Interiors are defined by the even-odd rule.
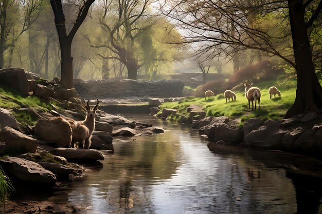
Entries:
[[[296,99],[286,118],[322,108],[322,89],[314,71],[308,38],[322,1],[184,0],[175,2],[171,8],[166,14],[189,32],[184,43],[200,43],[201,52],[221,54],[254,49],[292,65],[297,73]],[[275,16],[279,18],[273,19]],[[286,22],[288,17],[290,24]],[[270,23],[263,28],[265,18]],[[236,28],[234,34],[229,30],[231,23]]]

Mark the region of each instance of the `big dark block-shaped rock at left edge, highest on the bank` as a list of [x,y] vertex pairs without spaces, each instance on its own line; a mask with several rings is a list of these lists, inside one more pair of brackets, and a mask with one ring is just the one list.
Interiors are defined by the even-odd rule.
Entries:
[[24,95],[29,95],[27,76],[22,68],[0,69],[0,84],[20,90]]

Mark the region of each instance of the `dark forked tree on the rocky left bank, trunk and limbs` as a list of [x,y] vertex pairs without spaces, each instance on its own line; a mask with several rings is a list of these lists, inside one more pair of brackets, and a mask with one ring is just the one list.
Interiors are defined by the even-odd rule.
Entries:
[[78,31],[79,27],[85,20],[88,10],[95,0],[81,1],[78,8],[76,20],[71,27],[69,33],[66,30],[65,14],[63,12],[62,0],[50,0],[50,5],[55,15],[55,25],[59,38],[59,45],[61,51],[61,80],[65,88],[73,88],[73,57],[71,57],[71,43]]

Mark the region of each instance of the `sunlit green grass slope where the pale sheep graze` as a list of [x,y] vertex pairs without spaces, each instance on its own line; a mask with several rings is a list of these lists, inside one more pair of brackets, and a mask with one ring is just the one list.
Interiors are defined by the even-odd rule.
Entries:
[[[295,85],[294,85],[295,83]],[[275,83],[276,84],[276,83]],[[248,101],[245,98],[245,92],[237,92],[237,100],[226,103],[223,94],[218,94],[205,101],[204,98],[187,98],[182,103],[164,103],[161,108],[177,109],[180,114],[187,114],[186,107],[191,104],[203,106],[207,116],[228,116],[232,119],[240,120],[242,125],[249,118],[261,118],[263,121],[269,119],[282,119],[287,110],[292,106],[295,100],[296,82],[288,81],[282,85],[276,86],[281,91],[281,97],[271,100],[268,89],[274,85],[272,82],[254,85],[261,89],[260,110],[249,110]],[[255,103],[254,103],[255,105]],[[255,107],[255,106],[254,106]],[[252,103],[251,103],[252,108]]]

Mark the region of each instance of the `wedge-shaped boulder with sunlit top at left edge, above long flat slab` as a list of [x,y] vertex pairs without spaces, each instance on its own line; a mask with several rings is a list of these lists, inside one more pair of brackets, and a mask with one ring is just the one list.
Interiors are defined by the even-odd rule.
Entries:
[[34,153],[37,149],[37,140],[8,126],[0,131],[0,141],[5,142],[5,153]]

